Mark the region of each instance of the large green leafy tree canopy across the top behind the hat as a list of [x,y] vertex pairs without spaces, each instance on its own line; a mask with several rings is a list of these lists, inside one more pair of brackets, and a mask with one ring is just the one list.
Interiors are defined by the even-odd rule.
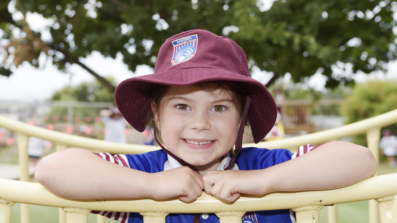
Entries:
[[[351,82],[350,75],[337,75],[331,67],[352,65],[353,73],[385,70],[397,57],[392,32],[392,13],[397,2],[360,0],[280,0],[269,10],[261,0],[29,0],[11,1],[23,15],[37,12],[53,20],[52,40],[43,42],[24,19],[14,21],[8,4],[0,6],[0,28],[4,31],[6,58],[13,63],[37,65],[40,52],[64,69],[77,63],[108,89],[114,87],[79,61],[97,50],[104,56],[123,54],[129,69],[154,66],[164,40],[189,29],[206,29],[227,35],[246,52],[251,66],[274,72],[269,86],[285,73],[301,81],[321,71],[326,86]],[[21,29],[25,37],[14,37]],[[17,49],[17,50],[15,50]],[[28,52],[28,53],[27,53]],[[8,66],[0,73],[9,75]]]

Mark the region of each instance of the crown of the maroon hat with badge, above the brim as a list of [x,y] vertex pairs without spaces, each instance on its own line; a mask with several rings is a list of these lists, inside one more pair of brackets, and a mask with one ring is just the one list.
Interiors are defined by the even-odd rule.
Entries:
[[250,76],[247,56],[237,43],[202,29],[168,38],[160,47],[154,73],[194,67],[223,69]]

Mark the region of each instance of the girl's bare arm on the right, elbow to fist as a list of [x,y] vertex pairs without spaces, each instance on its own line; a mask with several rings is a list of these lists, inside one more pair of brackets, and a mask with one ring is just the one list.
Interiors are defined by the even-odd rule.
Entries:
[[240,193],[341,188],[373,176],[377,168],[368,148],[337,141],[266,169],[210,171],[203,181],[206,193],[233,202]]

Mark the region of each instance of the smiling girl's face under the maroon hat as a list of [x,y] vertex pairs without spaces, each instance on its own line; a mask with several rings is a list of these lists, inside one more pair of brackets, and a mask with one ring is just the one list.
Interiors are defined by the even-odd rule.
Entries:
[[198,171],[216,169],[235,144],[239,112],[226,90],[172,86],[153,111],[165,147]]

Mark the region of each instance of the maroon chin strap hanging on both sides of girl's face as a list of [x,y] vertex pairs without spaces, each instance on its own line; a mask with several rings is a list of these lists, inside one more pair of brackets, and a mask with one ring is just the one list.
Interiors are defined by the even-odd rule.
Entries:
[[[231,169],[233,164],[236,162],[237,156],[241,152],[241,148],[243,147],[244,126],[245,126],[245,121],[247,120],[247,114],[248,114],[248,110],[249,110],[250,104],[251,104],[251,97],[249,95],[247,95],[246,100],[245,100],[245,107],[244,107],[243,117],[241,117],[241,123],[240,123],[240,126],[239,126],[239,130],[237,131],[237,138],[236,138],[236,146],[235,146],[235,150],[234,150],[234,155],[230,159],[229,165],[227,165],[225,170]],[[196,167],[194,167],[190,163],[187,163],[186,161],[182,160],[181,158],[175,156],[175,154],[173,154],[170,150],[167,150],[166,148],[164,148],[164,146],[157,139],[156,126],[154,126],[153,135],[154,135],[154,139],[156,140],[157,144],[162,148],[162,150],[164,150],[164,152],[166,152],[168,155],[170,155],[172,158],[174,158],[176,161],[178,161],[181,165],[190,167],[191,169],[193,169],[194,171],[199,173],[198,170],[196,169]]]

